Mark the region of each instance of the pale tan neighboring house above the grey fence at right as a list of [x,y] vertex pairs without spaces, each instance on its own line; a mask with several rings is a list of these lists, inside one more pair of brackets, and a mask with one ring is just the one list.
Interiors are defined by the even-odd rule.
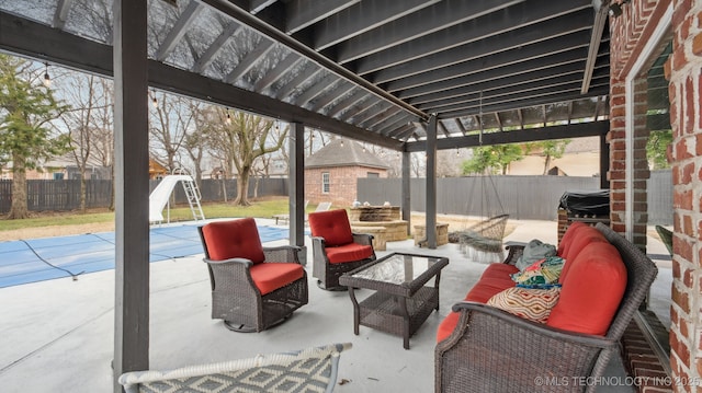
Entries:
[[[545,158],[524,155],[509,165],[510,175],[542,175]],[[600,174],[600,138],[575,138],[559,159],[551,160],[547,174],[558,176],[597,176]]]

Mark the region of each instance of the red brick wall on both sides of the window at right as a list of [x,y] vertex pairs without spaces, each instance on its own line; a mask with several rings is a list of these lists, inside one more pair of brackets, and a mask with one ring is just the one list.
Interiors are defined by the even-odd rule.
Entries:
[[[625,85],[633,62],[646,39],[672,3],[672,55],[666,63],[669,80],[670,122],[673,142],[670,151],[673,176],[672,305],[670,310],[670,367],[676,392],[702,392],[702,0],[632,0],[622,16],[611,21],[611,171],[612,227],[624,231],[625,199]],[[643,82],[636,83],[643,88]],[[638,91],[635,92],[637,94]],[[637,102],[639,102],[637,100]],[[635,111],[638,111],[638,106]],[[634,125],[634,146],[645,140],[645,131]],[[636,161],[636,160],[635,160]],[[634,163],[636,192],[646,171]],[[634,194],[634,210],[641,199]],[[638,232],[645,213],[634,216]],[[639,241],[639,235],[635,241]],[[678,382],[678,383],[676,383]]]

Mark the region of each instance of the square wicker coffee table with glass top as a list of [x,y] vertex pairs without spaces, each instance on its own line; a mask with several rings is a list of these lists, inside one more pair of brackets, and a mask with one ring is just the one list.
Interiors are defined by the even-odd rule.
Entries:
[[[439,310],[439,280],[449,258],[394,253],[339,277],[353,302],[353,333],[359,325],[403,336],[405,349],[432,310]],[[433,286],[426,286],[434,278]],[[359,302],[354,288],[375,290]]]

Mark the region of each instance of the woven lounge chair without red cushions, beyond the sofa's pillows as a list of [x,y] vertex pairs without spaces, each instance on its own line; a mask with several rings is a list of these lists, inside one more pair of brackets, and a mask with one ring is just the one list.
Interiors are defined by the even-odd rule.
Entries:
[[503,257],[502,239],[508,219],[509,215],[494,216],[461,231],[458,234],[461,251],[478,262],[500,261]]

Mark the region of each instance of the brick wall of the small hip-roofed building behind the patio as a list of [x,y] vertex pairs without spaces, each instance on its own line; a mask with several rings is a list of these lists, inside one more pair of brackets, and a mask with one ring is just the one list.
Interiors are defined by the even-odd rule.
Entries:
[[[329,173],[329,193],[321,189],[321,174]],[[305,199],[312,204],[330,201],[335,207],[350,207],[356,198],[356,180],[369,172],[387,177],[387,171],[367,166],[330,166],[305,169]],[[361,200],[363,203],[363,200]]]

